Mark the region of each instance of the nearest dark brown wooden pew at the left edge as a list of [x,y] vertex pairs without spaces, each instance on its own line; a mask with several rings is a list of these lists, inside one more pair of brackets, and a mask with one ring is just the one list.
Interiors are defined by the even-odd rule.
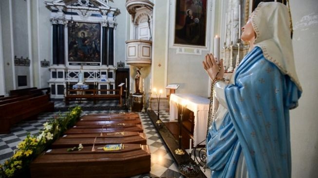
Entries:
[[48,95],[41,95],[0,105],[0,133],[9,133],[10,126],[43,111],[53,111],[54,103]]

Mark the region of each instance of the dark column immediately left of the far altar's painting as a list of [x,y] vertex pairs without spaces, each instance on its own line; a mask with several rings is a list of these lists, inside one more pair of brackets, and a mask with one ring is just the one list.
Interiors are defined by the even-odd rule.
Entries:
[[58,19],[58,64],[65,64],[64,19]]

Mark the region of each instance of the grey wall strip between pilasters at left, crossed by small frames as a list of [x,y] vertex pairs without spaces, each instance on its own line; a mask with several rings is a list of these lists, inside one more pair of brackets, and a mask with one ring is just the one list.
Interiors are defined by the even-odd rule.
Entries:
[[[29,55],[28,45],[28,16],[27,16],[27,1],[13,0],[12,1],[12,25],[13,25],[13,43],[14,43],[14,55],[18,58],[25,59]],[[16,74],[16,86],[17,89],[30,87],[30,66],[15,66]],[[27,86],[18,86],[18,76],[27,76]]]

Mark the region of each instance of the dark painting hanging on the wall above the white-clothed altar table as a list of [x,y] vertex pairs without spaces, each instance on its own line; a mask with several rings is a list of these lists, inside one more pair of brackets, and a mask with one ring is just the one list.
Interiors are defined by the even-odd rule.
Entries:
[[176,0],[174,44],[206,46],[207,0]]

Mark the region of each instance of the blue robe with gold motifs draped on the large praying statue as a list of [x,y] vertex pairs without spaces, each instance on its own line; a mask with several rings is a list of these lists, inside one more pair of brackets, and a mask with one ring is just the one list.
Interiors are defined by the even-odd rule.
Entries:
[[206,140],[212,178],[233,178],[241,153],[249,178],[290,178],[289,109],[301,95],[295,83],[255,47],[224,92],[228,113]]

